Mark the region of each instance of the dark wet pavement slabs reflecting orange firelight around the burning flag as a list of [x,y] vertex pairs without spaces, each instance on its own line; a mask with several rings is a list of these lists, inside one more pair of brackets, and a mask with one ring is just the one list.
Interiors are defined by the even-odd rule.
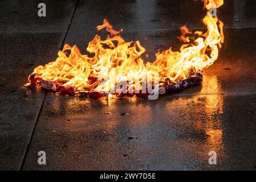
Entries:
[[[104,18],[123,28],[127,41],[139,40],[148,61],[158,49],[177,50],[180,26],[204,28],[200,2],[45,1],[44,18],[38,3],[0,2],[0,169],[255,170],[253,1],[228,1],[218,10],[225,44],[203,83],[154,101],[64,97],[22,86],[63,42],[84,52]],[[47,165],[38,164],[38,151],[46,151]],[[217,165],[209,165],[209,151],[217,152]]]

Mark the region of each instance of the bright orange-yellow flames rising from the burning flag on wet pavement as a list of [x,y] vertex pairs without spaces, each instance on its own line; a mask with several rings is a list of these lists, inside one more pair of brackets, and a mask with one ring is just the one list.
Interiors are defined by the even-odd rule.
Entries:
[[[207,10],[212,5],[220,7],[223,0],[202,0]],[[127,88],[131,96],[136,90],[141,93],[143,82],[154,81],[152,88],[164,86],[168,88],[192,77],[198,71],[209,67],[218,57],[218,48],[224,42],[223,23],[217,17],[207,15],[203,18],[207,32],[189,31],[181,27],[180,40],[185,42],[180,51],[171,48],[155,54],[153,63],[144,63],[141,55],[146,51],[139,41],[126,42],[104,19],[97,30],[106,28],[108,36],[102,39],[96,35],[89,42],[87,51],[93,56],[82,55],[77,46],[65,44],[58,57],[46,65],[36,67],[30,76],[27,87],[40,85],[53,91],[61,90],[69,93],[117,93],[116,86],[128,82]],[[70,52],[68,55],[67,51]],[[187,83],[187,82],[186,82]],[[114,90],[114,91],[113,91]],[[149,92],[148,90],[146,92]],[[162,91],[163,92],[163,91]],[[164,90],[166,92],[166,90]]]

